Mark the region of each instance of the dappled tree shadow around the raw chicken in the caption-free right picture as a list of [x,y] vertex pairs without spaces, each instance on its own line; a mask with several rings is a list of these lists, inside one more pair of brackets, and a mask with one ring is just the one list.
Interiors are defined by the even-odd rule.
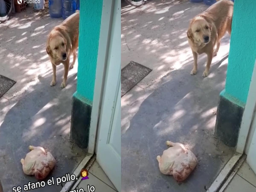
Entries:
[[[232,149],[213,136],[214,111],[225,85],[227,58],[213,65],[207,78],[191,76],[191,66],[186,64],[170,72],[163,77],[165,83],[140,104],[129,127],[122,127],[124,191],[201,192],[205,191],[204,186],[211,185],[233,155]],[[122,117],[127,110],[132,108],[122,107]],[[167,148],[166,140],[183,143],[199,160],[196,170],[182,185],[159,171],[156,156]]]

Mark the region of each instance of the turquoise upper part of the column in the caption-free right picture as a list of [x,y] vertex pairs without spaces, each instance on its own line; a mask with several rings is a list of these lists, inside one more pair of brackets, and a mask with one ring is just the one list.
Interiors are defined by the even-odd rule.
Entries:
[[225,91],[246,103],[256,57],[256,1],[236,0]]

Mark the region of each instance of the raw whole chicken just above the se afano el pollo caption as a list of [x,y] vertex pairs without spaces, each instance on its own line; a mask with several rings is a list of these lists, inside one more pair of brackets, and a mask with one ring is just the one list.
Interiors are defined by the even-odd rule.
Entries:
[[42,147],[29,146],[31,150],[24,159],[21,159],[23,172],[26,175],[35,175],[36,179],[43,180],[55,166],[55,159],[50,152]]

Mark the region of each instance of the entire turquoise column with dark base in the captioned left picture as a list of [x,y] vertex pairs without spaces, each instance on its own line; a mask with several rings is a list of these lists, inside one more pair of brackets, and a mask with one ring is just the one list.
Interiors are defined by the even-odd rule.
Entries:
[[80,0],[77,91],[73,95],[70,139],[87,148],[100,38],[103,0]]

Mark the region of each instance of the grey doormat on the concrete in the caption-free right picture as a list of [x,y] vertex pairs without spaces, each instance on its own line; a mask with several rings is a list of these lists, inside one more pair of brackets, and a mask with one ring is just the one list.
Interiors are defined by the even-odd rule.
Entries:
[[131,61],[121,70],[121,97],[147,76],[152,69]]

